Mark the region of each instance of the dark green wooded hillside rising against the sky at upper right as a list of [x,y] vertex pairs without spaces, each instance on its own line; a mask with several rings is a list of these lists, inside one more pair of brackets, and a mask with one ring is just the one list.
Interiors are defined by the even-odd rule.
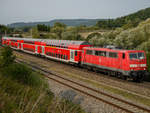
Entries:
[[117,19],[100,20],[96,26],[103,29],[115,29],[117,27],[128,29],[136,27],[141,21],[148,18],[150,18],[150,8]]

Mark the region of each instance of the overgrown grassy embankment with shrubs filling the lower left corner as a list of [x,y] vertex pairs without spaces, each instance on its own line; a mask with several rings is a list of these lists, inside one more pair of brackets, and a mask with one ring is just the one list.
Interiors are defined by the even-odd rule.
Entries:
[[14,63],[8,52],[0,51],[0,113],[84,113],[79,105],[55,97],[42,75]]

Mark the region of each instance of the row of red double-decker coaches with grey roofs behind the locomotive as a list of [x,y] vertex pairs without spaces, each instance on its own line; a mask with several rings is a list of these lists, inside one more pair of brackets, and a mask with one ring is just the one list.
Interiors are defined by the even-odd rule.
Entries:
[[48,40],[3,37],[2,44],[27,53],[42,55],[63,62],[81,62],[81,53],[84,47],[91,47],[85,41]]

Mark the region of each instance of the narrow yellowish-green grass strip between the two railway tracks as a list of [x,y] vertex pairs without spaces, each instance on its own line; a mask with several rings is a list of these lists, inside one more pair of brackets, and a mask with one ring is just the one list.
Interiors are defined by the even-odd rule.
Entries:
[[147,98],[135,95],[133,93],[129,93],[129,92],[125,91],[125,90],[121,90],[121,89],[114,88],[114,87],[111,87],[111,86],[108,86],[108,85],[104,85],[104,84],[101,84],[99,82],[87,79],[87,78],[83,78],[81,76],[78,76],[76,74],[72,74],[71,72],[66,72],[66,71],[61,70],[61,69],[53,68],[53,70],[55,70],[58,73],[61,73],[61,74],[67,75],[69,77],[78,79],[80,81],[86,82],[88,84],[91,84],[91,85],[93,85],[93,86],[95,86],[97,88],[101,88],[101,89],[104,89],[104,90],[106,90],[108,92],[112,92],[114,94],[120,95],[120,96],[122,96],[124,98],[127,98],[127,99],[130,99],[132,101],[136,101],[136,102],[142,103],[144,105],[150,106],[150,99],[147,99]]

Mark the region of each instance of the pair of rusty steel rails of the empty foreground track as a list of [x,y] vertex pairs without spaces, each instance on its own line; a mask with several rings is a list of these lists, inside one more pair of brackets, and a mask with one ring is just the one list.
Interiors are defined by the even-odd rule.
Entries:
[[[26,63],[26,62],[21,61],[21,60],[20,60],[20,61],[17,60],[17,61],[18,61],[18,62]],[[95,98],[95,99],[97,99],[97,100],[103,101],[103,102],[105,102],[105,103],[107,103],[107,104],[109,104],[109,105],[112,105],[112,106],[114,106],[114,107],[116,107],[116,108],[119,108],[119,109],[121,109],[121,110],[124,110],[124,111],[126,111],[126,112],[128,112],[128,113],[134,113],[134,112],[132,112],[132,111],[130,111],[130,110],[128,110],[128,109],[125,109],[125,108],[123,108],[123,107],[121,107],[121,106],[119,106],[119,105],[113,104],[113,103],[111,103],[111,102],[109,102],[109,101],[106,101],[106,100],[104,100],[104,99],[102,99],[102,98],[99,98],[99,97],[97,97],[97,96],[94,96],[94,95],[92,95],[92,94],[89,94],[89,93],[87,93],[87,92],[85,92],[85,91],[82,91],[82,90],[80,90],[80,89],[77,89],[77,88],[75,88],[75,87],[73,87],[73,86],[70,86],[70,85],[68,85],[68,84],[66,84],[66,83],[63,83],[63,82],[61,82],[61,81],[59,81],[59,80],[56,80],[56,79],[54,79],[54,78],[51,78],[51,77],[48,76],[47,74],[50,74],[50,75],[59,77],[59,78],[61,78],[61,79],[63,79],[63,80],[66,80],[66,81],[69,81],[69,82],[71,82],[71,83],[74,83],[74,84],[76,84],[76,85],[78,85],[78,86],[80,86],[80,87],[86,88],[86,89],[91,90],[91,91],[93,91],[93,92],[96,92],[96,93],[98,93],[98,94],[102,94],[102,95],[104,95],[104,96],[110,97],[110,98],[112,98],[112,99],[115,99],[115,100],[117,100],[117,101],[120,101],[120,102],[122,102],[122,103],[128,104],[128,105],[130,105],[130,106],[133,106],[133,107],[135,107],[135,108],[138,108],[138,109],[140,109],[140,110],[143,110],[143,111],[146,111],[146,112],[150,113],[150,110],[149,110],[149,109],[144,108],[144,107],[142,107],[142,106],[133,104],[133,103],[131,103],[131,102],[125,101],[125,100],[120,99],[120,98],[117,98],[117,97],[114,97],[114,96],[112,96],[112,95],[109,95],[109,94],[107,94],[107,93],[101,92],[101,91],[99,91],[99,90],[96,90],[96,89],[87,87],[87,86],[85,86],[85,85],[83,85],[83,84],[77,83],[77,82],[72,81],[72,80],[69,80],[69,79],[67,79],[67,78],[63,78],[62,76],[56,74],[55,72],[52,72],[52,71],[43,69],[43,68],[41,68],[41,67],[38,67],[38,66],[35,66],[35,65],[32,65],[32,64],[29,64],[29,63],[26,63],[26,64],[30,65],[32,68],[34,68],[34,70],[40,70],[40,71],[46,73],[46,74],[44,74],[44,75],[45,75],[47,78],[51,79],[51,80],[54,80],[54,81],[56,81],[56,82],[58,82],[58,83],[60,83],[60,84],[63,84],[63,85],[65,85],[65,86],[68,86],[68,87],[70,87],[70,88],[72,88],[72,89],[74,89],[74,90],[77,90],[77,91],[79,91],[79,92],[81,92],[81,93],[83,93],[83,94],[86,94],[86,95],[88,95],[88,96],[91,96],[91,97],[93,97],[93,98]]]

